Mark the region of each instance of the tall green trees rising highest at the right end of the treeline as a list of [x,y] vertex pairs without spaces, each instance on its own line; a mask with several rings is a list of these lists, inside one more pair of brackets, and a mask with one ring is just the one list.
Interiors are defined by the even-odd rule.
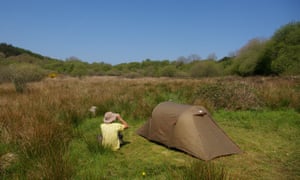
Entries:
[[299,75],[300,22],[278,29],[271,39],[252,39],[238,52],[225,69],[226,74]]

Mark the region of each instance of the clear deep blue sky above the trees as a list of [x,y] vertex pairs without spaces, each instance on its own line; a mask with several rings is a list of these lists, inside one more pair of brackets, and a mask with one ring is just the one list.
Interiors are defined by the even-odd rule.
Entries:
[[64,60],[205,59],[300,20],[299,0],[0,0],[0,42]]

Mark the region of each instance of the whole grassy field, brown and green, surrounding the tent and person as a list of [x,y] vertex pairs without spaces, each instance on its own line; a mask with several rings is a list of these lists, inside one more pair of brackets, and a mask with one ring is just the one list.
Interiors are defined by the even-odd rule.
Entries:
[[[168,100],[206,106],[243,153],[204,162],[138,136]],[[57,77],[0,84],[0,109],[1,179],[300,178],[300,77]],[[106,111],[130,125],[117,152],[97,143]]]

